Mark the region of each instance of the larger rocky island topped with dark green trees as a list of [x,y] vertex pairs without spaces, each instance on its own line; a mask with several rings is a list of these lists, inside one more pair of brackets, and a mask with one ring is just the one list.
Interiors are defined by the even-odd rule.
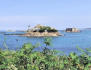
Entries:
[[21,36],[27,37],[45,37],[45,36],[62,36],[55,28],[49,26],[42,26],[38,24],[37,26],[28,29],[27,32]]

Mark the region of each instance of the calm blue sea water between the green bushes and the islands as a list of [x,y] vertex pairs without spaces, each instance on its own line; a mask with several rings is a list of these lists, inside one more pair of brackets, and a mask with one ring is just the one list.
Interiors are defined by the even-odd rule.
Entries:
[[[56,49],[65,52],[66,54],[70,52],[76,52],[77,46],[85,49],[91,47],[91,30],[84,29],[79,33],[67,33],[64,31],[59,31],[64,34],[64,36],[52,37],[52,45],[51,49]],[[24,32],[5,32],[5,33],[24,33]],[[0,32],[0,48],[5,49],[7,46],[10,50],[17,50],[22,47],[24,43],[40,43],[41,46],[43,44],[44,38],[40,37],[21,37],[14,35],[4,35],[4,33]],[[4,44],[6,43],[6,44]],[[6,45],[6,46],[5,46]],[[40,50],[40,48],[37,48]]]

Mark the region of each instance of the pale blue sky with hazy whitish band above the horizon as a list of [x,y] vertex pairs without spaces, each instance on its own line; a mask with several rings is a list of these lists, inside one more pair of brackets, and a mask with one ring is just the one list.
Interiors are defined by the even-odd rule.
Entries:
[[36,24],[59,30],[91,28],[91,0],[0,0],[0,30]]

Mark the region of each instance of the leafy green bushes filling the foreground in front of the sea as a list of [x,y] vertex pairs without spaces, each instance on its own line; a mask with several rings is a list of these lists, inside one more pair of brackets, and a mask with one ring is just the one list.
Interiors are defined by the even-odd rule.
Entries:
[[[80,50],[81,55],[70,53],[65,55],[56,50],[50,50],[50,39],[44,41],[42,51],[36,51],[39,44],[24,44],[20,50],[10,51],[0,49],[0,70],[90,70],[91,50]],[[60,55],[61,54],[61,55]]]

